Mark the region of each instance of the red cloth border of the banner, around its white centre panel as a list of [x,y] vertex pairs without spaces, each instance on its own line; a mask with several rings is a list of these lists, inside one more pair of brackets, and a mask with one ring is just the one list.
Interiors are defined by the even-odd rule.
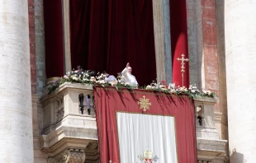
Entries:
[[[150,109],[143,113],[137,101],[145,95]],[[96,87],[94,90],[99,151],[101,162],[119,163],[116,111],[175,116],[178,162],[197,162],[195,114],[192,100],[152,91],[116,91],[115,88]]]

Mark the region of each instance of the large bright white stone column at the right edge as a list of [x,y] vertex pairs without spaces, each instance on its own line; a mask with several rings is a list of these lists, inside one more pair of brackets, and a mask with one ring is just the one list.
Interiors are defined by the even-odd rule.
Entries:
[[255,162],[256,1],[225,0],[230,162]]

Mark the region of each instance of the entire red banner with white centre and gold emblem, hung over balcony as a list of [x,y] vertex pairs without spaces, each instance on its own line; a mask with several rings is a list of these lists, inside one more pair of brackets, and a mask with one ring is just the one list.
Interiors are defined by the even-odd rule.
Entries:
[[[144,90],[128,91],[124,89],[116,91],[115,88],[111,87],[96,87],[94,97],[102,163],[109,161],[128,162],[123,159],[129,160],[131,157],[133,160],[129,162],[138,163],[149,160],[163,162],[169,161],[169,159],[183,163],[197,162],[194,106],[192,100],[186,95],[166,95],[165,93]],[[169,123],[172,119],[174,124]],[[161,124],[162,121],[163,124]],[[135,129],[135,133],[120,133],[132,131],[133,128],[139,129]],[[168,128],[173,128],[174,137],[168,136]],[[144,135],[149,135],[151,139],[152,137],[156,138],[144,141],[146,137],[142,137],[143,134],[140,132],[147,133]],[[128,138],[126,138],[127,134],[130,134]],[[139,137],[140,141],[136,141],[136,137]],[[135,142],[130,142],[133,139]],[[121,147],[124,143],[128,149],[124,150],[124,146]],[[130,145],[132,143],[134,145]],[[137,148],[143,146],[143,143],[149,143],[149,147],[144,147],[144,151],[138,152]],[[173,147],[167,149],[168,143]],[[124,151],[127,152],[124,153]],[[169,151],[173,151],[173,156],[177,159],[168,158]],[[133,152],[135,152],[135,156],[132,156]]]

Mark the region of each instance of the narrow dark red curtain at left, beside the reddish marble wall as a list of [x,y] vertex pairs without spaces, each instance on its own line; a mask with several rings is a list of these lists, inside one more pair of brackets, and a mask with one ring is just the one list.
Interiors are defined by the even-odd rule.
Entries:
[[45,0],[46,77],[64,75],[63,21],[61,0]]

